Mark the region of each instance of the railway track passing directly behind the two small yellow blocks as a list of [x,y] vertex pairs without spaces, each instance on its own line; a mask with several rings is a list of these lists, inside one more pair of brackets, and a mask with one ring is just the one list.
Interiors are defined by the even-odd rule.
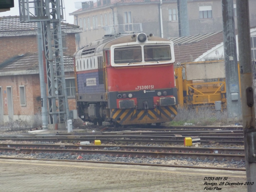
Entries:
[[[152,133],[153,134],[153,133]],[[186,136],[155,136],[155,135],[2,135],[0,140],[13,141],[44,141],[44,142],[68,142],[101,140],[102,143],[126,143],[126,144],[182,144]],[[229,145],[243,145],[244,137],[211,137],[200,136],[202,144],[219,143]]]

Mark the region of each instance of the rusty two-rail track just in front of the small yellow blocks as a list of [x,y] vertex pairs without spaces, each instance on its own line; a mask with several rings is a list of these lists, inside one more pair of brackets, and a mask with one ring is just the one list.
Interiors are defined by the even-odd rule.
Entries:
[[53,145],[53,144],[1,144],[0,154],[102,154],[130,158],[180,158],[206,159],[215,161],[243,161],[244,149],[238,148],[185,148],[154,146],[95,146],[95,145]]

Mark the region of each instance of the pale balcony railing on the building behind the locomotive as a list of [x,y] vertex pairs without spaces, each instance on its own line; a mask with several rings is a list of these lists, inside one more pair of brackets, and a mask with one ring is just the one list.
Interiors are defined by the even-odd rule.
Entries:
[[142,32],[142,24],[141,23],[109,25],[109,26],[104,26],[103,28],[106,31],[106,34]]

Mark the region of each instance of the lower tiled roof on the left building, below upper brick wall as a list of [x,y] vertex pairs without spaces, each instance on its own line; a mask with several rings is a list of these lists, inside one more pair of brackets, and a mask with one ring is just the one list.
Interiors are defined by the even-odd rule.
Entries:
[[[73,64],[74,61],[72,56],[64,55],[63,61],[64,61],[65,71],[74,70],[74,64]],[[8,71],[14,72],[14,71],[24,71],[24,70],[39,70],[37,53],[26,53],[24,55],[15,56],[0,64],[0,73],[8,72]]]

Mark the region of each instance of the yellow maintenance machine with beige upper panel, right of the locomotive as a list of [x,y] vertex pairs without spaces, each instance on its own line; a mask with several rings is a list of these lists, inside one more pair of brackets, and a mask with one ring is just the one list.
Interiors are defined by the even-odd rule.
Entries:
[[214,107],[215,101],[226,108],[224,60],[181,63],[175,68],[175,83],[179,108]]

